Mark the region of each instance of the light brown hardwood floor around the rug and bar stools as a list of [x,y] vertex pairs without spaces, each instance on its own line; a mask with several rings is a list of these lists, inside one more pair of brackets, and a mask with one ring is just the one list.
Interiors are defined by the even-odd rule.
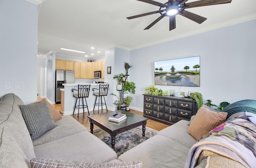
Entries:
[[[53,106],[58,110],[60,111],[60,104],[53,104]],[[80,110],[80,113],[79,113],[79,117],[77,117],[77,114],[74,114],[74,115],[70,115],[72,117],[74,117],[74,119],[76,119],[78,122],[80,122],[81,124],[83,124],[88,130],[90,130],[90,122],[89,122],[89,118],[87,117],[88,116],[88,112],[81,112],[82,109]],[[108,110],[110,111],[110,110]],[[106,112],[106,110],[100,110],[100,113],[101,112]],[[137,115],[140,115],[142,116],[142,112],[138,112],[138,111],[135,111],[135,110],[130,110],[131,113],[133,114],[137,114]],[[90,111],[90,115],[94,115],[94,114],[98,114],[98,111]],[[152,128],[154,130],[162,130],[166,127],[168,127],[169,125],[166,125],[166,124],[162,124],[160,122],[156,122],[156,121],[153,121],[153,120],[147,120],[147,127],[149,128]],[[98,129],[97,126],[94,126],[94,130]]]

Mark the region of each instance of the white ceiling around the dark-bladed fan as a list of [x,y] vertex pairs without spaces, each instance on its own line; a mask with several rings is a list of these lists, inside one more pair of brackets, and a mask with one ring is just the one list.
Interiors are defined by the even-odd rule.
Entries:
[[[194,1],[188,0],[187,3]],[[134,50],[256,19],[256,0],[232,0],[229,4],[186,9],[207,20],[198,24],[177,15],[176,29],[172,31],[169,31],[168,17],[149,30],[143,30],[160,14],[131,20],[126,18],[158,9],[158,6],[137,0],[44,0],[38,6],[38,54],[47,56],[55,52],[56,55],[76,58],[85,58],[87,54],[89,59],[98,59],[104,58],[108,48]],[[246,31],[246,28],[241,31]],[[94,50],[90,49],[92,46]]]

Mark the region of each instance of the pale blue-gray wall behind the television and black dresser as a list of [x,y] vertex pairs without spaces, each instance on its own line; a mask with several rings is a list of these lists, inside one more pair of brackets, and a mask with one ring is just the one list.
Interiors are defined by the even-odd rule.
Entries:
[[213,104],[256,99],[256,20],[131,51],[134,106],[143,110],[144,89],[154,84],[154,61],[201,56],[200,87],[162,86],[162,90],[200,92]]

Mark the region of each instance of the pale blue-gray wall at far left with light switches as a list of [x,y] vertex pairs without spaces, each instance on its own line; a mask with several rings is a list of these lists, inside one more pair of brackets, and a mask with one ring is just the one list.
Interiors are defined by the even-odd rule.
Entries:
[[[0,0],[0,97],[18,95],[25,104],[37,96],[38,6],[25,0]],[[10,84],[4,89],[4,82]],[[15,89],[15,83],[24,86]]]

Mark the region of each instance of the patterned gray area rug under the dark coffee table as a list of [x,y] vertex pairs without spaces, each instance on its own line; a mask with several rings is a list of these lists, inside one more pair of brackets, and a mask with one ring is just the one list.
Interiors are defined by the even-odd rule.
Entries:
[[[127,150],[133,148],[134,146],[144,142],[148,138],[156,135],[157,133],[157,130],[146,127],[145,136],[142,136],[142,126],[139,126],[117,134],[115,144],[115,151],[117,157],[126,152]],[[95,130],[93,134],[111,147],[111,137],[107,132],[102,129],[98,129]]]

